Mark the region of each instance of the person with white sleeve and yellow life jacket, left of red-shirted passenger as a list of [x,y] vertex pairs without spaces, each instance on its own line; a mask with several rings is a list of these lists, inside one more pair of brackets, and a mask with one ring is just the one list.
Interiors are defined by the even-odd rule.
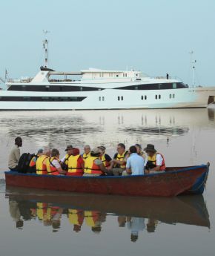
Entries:
[[51,157],[47,160],[46,163],[48,175],[66,174],[67,171],[64,171],[62,169],[62,166],[60,165],[59,156],[59,150],[53,148],[53,150],[51,151]]

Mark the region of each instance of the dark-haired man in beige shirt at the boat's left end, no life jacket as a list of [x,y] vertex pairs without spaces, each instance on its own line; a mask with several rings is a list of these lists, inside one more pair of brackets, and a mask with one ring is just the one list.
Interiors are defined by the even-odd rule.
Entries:
[[8,158],[8,167],[10,168],[10,171],[16,171],[17,169],[17,165],[19,163],[20,158],[20,147],[22,147],[22,138],[16,137],[15,145],[10,151]]

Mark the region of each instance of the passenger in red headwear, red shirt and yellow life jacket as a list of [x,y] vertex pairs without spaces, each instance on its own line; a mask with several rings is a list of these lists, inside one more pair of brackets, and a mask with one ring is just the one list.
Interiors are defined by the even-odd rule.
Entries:
[[79,148],[73,148],[73,153],[68,158],[67,176],[82,176],[85,162],[80,155]]

